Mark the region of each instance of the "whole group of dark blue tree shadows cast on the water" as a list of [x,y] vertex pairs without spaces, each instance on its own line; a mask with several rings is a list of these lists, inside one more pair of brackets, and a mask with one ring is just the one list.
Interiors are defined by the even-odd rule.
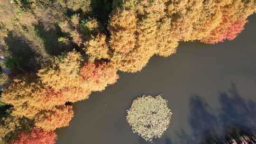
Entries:
[[177,132],[179,144],[223,144],[228,139],[255,133],[255,101],[243,99],[232,83],[228,92],[219,93],[219,102],[220,109],[212,108],[203,97],[191,96],[189,123],[192,134],[183,130]]

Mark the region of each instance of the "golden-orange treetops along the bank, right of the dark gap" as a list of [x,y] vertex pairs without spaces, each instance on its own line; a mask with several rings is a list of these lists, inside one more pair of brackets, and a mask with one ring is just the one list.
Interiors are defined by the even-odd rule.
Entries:
[[[179,41],[214,37],[215,31],[256,11],[255,0],[135,1],[114,0],[108,25],[113,49],[110,60],[123,72],[140,71],[154,54],[174,54]],[[229,20],[223,22],[223,16]]]

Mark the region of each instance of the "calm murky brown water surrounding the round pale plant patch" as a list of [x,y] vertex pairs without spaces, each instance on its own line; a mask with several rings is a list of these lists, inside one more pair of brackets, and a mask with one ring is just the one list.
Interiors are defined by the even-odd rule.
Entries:
[[141,72],[119,74],[117,83],[73,105],[57,144],[146,144],[126,122],[126,110],[143,94],[163,94],[174,113],[154,144],[197,144],[229,125],[256,129],[256,15],[232,42],[181,43],[173,56],[155,56]]

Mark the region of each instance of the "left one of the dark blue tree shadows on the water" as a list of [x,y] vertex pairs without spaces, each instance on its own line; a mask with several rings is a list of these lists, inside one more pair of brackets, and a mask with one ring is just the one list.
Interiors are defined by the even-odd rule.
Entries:
[[189,123],[193,130],[191,142],[214,144],[223,140],[222,127],[215,110],[210,107],[205,99],[200,96],[192,96],[190,99]]

